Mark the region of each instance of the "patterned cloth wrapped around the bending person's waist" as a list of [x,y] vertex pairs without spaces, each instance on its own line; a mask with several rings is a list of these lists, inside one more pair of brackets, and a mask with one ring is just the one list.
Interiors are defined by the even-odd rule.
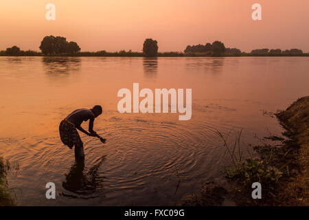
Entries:
[[69,120],[64,119],[60,122],[59,133],[62,143],[69,146],[69,148],[73,148],[74,145],[76,147],[82,146],[83,143],[76,130],[76,126],[72,122],[69,122]]

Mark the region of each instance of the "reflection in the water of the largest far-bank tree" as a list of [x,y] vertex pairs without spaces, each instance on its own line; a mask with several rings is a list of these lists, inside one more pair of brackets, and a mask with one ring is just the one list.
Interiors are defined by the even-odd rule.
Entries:
[[57,77],[59,74],[71,72],[79,72],[80,57],[69,56],[44,56],[42,63],[45,67],[45,72],[51,77]]

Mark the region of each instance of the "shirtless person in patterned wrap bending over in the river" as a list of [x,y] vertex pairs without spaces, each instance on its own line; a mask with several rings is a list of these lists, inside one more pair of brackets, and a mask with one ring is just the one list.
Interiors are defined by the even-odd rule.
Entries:
[[[92,109],[77,109],[60,122],[60,139],[62,143],[69,146],[70,149],[75,146],[74,152],[76,158],[84,158],[84,143],[80,139],[80,135],[76,129],[91,137],[100,137],[93,131],[93,121],[100,114],[102,114],[102,107],[100,105],[95,105]],[[85,131],[80,126],[82,122],[86,122],[87,120],[89,120],[89,132]],[[104,138],[100,137],[100,140],[103,142]]]

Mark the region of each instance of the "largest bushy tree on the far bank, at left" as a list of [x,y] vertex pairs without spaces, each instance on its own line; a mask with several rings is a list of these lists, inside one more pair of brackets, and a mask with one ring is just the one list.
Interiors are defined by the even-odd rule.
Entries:
[[80,51],[80,47],[75,42],[67,42],[62,36],[45,36],[40,45],[43,54],[73,54]]

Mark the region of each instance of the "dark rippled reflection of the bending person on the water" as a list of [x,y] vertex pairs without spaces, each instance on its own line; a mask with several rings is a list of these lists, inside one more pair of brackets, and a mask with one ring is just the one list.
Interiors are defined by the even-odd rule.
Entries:
[[65,192],[62,195],[79,199],[102,197],[102,195],[98,195],[98,192],[104,189],[105,177],[100,176],[98,170],[102,162],[104,162],[105,157],[105,155],[100,157],[98,162],[87,173],[84,171],[84,159],[76,159],[69,173],[65,175],[66,181],[62,182],[62,187],[69,192],[73,192],[75,195],[67,195]]

